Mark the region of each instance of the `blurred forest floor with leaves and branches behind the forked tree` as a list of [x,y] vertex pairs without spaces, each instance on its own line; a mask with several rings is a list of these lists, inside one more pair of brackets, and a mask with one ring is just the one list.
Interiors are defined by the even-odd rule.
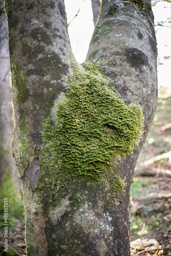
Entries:
[[[138,159],[131,194],[131,255],[171,255],[171,91],[160,88],[156,116]],[[1,221],[1,220],[0,220]],[[9,250],[26,255],[23,202],[9,215]],[[0,228],[2,228],[0,226]]]

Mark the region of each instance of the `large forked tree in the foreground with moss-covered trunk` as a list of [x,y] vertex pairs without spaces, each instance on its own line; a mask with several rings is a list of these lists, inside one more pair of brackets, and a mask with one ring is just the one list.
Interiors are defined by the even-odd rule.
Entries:
[[86,61],[63,0],[7,0],[28,255],[130,255],[135,164],[157,103],[149,0],[102,0]]

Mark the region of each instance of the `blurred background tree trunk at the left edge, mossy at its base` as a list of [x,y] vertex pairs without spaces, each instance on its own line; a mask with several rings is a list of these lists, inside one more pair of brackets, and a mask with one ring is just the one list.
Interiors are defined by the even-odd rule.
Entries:
[[1,205],[4,198],[14,204],[21,199],[20,179],[15,160],[12,156],[12,100],[10,88],[10,57],[8,49],[7,14],[0,1],[0,195]]

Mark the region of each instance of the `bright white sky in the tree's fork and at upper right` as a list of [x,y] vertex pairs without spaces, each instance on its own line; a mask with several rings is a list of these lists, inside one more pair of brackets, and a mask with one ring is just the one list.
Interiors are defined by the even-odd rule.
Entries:
[[[171,68],[171,3],[152,1],[155,16],[155,30],[158,48],[158,86],[170,87]],[[91,0],[65,0],[70,42],[76,60],[82,63],[87,55],[90,40],[94,31]]]

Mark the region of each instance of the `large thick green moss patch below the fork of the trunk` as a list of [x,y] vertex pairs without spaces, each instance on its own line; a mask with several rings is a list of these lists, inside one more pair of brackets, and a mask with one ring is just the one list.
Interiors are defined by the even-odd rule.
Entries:
[[99,182],[116,165],[114,159],[133,152],[143,124],[140,106],[126,106],[93,63],[74,70],[62,97],[56,104],[56,124],[44,119],[47,144],[40,155],[38,185],[54,196],[61,189],[71,192],[68,184],[74,182]]

